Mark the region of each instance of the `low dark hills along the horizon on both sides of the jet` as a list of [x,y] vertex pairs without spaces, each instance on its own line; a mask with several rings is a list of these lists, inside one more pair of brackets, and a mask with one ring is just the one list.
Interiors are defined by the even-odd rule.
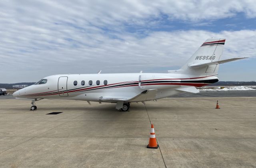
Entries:
[[[6,88],[6,89],[13,89],[12,86],[15,85],[32,85],[36,82],[22,82],[22,83],[15,83],[15,84],[0,84],[0,88]],[[255,81],[251,81],[251,82],[235,82],[235,81],[219,81],[217,83],[214,84],[210,84],[208,86],[256,86],[256,82]]]

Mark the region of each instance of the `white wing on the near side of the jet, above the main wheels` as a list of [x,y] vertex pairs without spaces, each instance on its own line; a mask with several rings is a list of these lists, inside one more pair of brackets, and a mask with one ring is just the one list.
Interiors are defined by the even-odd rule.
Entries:
[[154,100],[156,98],[157,89],[144,90],[136,96],[104,96],[99,100],[102,102],[142,102]]

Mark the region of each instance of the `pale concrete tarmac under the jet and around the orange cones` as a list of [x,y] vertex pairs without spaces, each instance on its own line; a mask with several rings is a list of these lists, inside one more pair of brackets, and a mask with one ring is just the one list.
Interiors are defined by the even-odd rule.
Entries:
[[[0,167],[256,167],[256,97],[0,100]],[[62,112],[46,115],[51,112]],[[146,148],[154,124],[158,149]]]

